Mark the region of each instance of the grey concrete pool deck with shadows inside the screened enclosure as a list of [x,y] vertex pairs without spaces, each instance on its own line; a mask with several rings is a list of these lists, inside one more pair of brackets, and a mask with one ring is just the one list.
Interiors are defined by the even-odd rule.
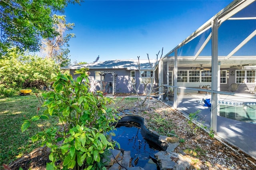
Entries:
[[[210,127],[211,108],[204,107],[202,101],[205,94],[198,93],[185,93],[179,94],[177,99],[177,109],[184,115],[188,116],[189,113],[194,113],[200,110],[198,120],[206,127]],[[255,99],[242,98],[236,96],[220,95],[219,100],[234,101],[234,102],[249,102],[255,103]],[[173,106],[173,101],[164,101],[167,105]],[[254,107],[255,108],[255,107]],[[256,111],[255,111],[256,112]],[[255,113],[256,115],[256,113]],[[256,124],[246,123],[243,121],[236,121],[225,117],[217,117],[217,136],[226,142],[237,146],[240,150],[249,154],[256,159]]]

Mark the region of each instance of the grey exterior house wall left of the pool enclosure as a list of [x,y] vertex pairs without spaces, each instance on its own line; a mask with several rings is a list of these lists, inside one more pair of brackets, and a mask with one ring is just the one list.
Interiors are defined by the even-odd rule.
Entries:
[[[76,80],[78,75],[74,75],[75,69],[70,69],[70,74],[72,75],[73,79]],[[97,91],[100,90],[100,81],[95,81],[95,71],[114,71],[116,76],[116,92],[115,93],[136,93],[135,90],[132,88],[130,83],[130,71],[126,69],[90,69],[90,75],[88,77],[90,81],[90,91]],[[156,72],[156,75],[158,73]],[[140,84],[140,73],[138,70],[135,71],[135,78],[136,78],[136,89],[138,89],[138,94],[144,93],[144,85]],[[113,76],[110,73],[106,73],[104,77],[105,85],[105,92],[112,93],[112,87],[108,85],[108,82],[113,81]],[[150,87],[150,85],[147,85]],[[154,81],[154,87],[157,87],[157,81]]]

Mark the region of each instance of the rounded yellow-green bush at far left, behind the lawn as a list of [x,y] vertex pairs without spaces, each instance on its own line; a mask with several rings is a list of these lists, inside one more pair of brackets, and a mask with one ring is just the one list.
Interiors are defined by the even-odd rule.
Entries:
[[59,67],[52,59],[10,50],[0,57],[0,94],[13,96],[19,89],[48,85],[58,71]]

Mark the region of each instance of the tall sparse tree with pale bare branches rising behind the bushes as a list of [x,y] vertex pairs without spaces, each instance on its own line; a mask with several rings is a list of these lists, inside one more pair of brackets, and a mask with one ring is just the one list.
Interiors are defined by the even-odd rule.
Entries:
[[53,15],[53,18],[55,21],[54,30],[58,35],[42,39],[41,49],[46,58],[52,58],[57,64],[66,66],[70,63],[68,41],[76,36],[72,33],[65,34],[65,32],[73,30],[75,24],[66,24],[66,16]]

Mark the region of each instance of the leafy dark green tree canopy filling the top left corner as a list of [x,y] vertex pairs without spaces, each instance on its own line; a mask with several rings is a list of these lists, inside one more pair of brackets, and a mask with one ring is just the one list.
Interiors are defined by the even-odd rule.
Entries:
[[10,47],[38,51],[40,39],[56,36],[52,12],[83,0],[0,0],[0,57]]

